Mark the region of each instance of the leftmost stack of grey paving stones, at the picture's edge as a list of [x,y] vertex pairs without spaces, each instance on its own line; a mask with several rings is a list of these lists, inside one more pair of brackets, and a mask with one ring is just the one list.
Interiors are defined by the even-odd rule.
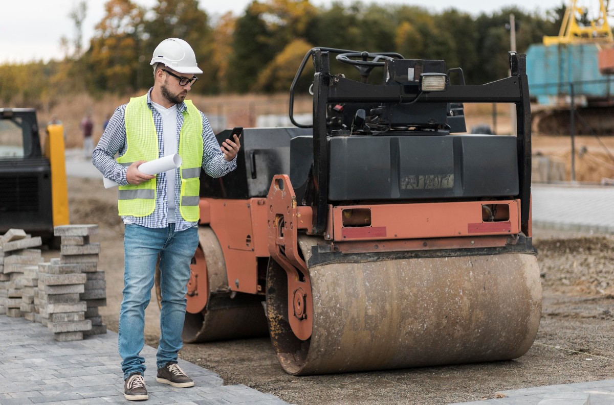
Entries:
[[0,238],[0,313],[34,320],[37,266],[42,262],[41,238],[23,229],[9,229]]

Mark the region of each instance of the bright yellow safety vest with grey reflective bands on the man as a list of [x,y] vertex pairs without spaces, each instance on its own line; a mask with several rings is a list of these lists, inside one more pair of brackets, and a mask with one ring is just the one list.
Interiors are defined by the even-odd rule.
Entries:
[[[200,192],[200,168],[203,162],[203,120],[191,100],[185,100],[187,109],[182,113],[184,123],[179,132],[179,156],[181,156],[181,200],[179,212],[188,222],[200,218],[198,210]],[[123,166],[136,161],[158,159],[158,135],[153,123],[152,111],[147,106],[147,94],[130,99],[125,110],[126,153],[117,158]],[[119,214],[122,216],[147,216],[155,210],[156,179],[141,184],[119,187]]]

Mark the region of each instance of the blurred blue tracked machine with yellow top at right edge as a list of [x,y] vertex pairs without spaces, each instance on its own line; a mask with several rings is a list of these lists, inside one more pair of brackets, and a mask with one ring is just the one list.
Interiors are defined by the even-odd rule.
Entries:
[[529,89],[537,101],[531,115],[535,133],[614,134],[614,36],[608,3],[569,0],[559,35],[545,36],[542,44],[527,49]]

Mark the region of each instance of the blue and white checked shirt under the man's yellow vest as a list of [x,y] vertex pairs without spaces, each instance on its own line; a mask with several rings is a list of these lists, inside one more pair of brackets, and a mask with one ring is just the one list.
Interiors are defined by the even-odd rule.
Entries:
[[[162,117],[158,110],[156,110],[151,104],[151,91],[147,92],[147,106],[153,113],[153,123],[155,123],[155,129],[158,134],[158,157],[163,157],[164,145],[162,138]],[[126,153],[126,125],[125,125],[125,110],[126,105],[120,105],[115,110],[113,116],[109,120],[106,129],[103,132],[103,136],[100,138],[98,145],[94,149],[91,155],[92,163],[103,173],[103,176],[115,181],[122,186],[128,184],[126,180],[126,172],[128,167],[117,164],[114,159],[116,153],[119,152],[119,156]],[[182,113],[187,110],[185,103],[177,104],[177,150],[179,150],[179,133],[181,126],[184,123],[184,116]],[[217,139],[209,121],[202,112],[200,115],[203,118],[203,164],[202,168],[204,172],[209,176],[218,178],[235,170],[236,168],[236,156],[235,159],[228,162],[224,159],[224,154],[220,150],[220,145],[217,143]],[[188,222],[179,213],[179,194],[181,192],[181,176],[179,170],[176,170],[175,175],[175,230],[177,232],[188,229],[196,225],[196,222]],[[166,189],[166,173],[160,173],[156,176],[156,200],[155,210],[153,213],[144,217],[135,216],[122,216],[124,222],[133,222],[147,228],[165,228],[168,226],[168,197]]]

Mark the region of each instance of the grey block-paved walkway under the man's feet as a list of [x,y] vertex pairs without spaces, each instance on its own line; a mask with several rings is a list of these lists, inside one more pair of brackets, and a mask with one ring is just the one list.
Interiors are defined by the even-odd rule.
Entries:
[[159,384],[155,349],[145,346],[141,353],[149,365],[145,371],[149,400],[128,401],[123,397],[117,333],[58,342],[41,324],[0,315],[0,404],[287,404],[245,385],[222,385],[216,373],[181,359],[179,366],[192,377],[195,387]]

